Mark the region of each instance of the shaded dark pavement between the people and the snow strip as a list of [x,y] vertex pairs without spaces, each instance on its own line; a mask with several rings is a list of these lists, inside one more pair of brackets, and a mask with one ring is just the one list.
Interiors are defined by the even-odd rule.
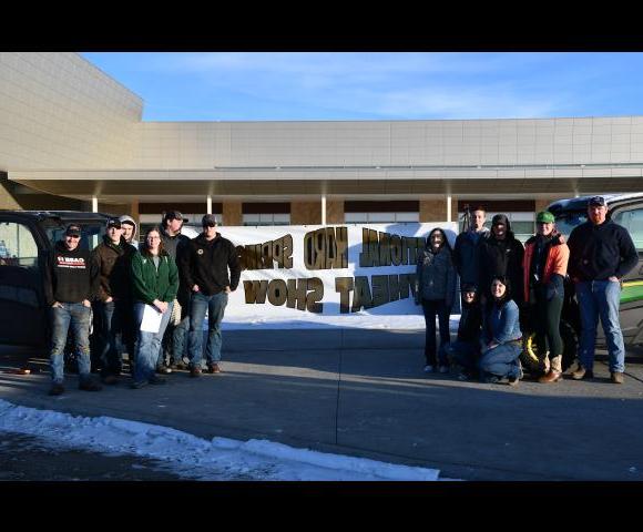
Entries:
[[267,439],[421,466],[441,478],[643,480],[643,349],[629,350],[636,359],[621,386],[610,383],[602,357],[593,380],[527,378],[513,388],[426,375],[422,346],[423,331],[409,330],[226,331],[220,375],[176,371],[167,386],[140,390],[123,377],[99,393],[78,390],[72,375],[60,397],[48,396],[44,354],[4,346],[0,368],[29,358],[42,371],[0,372],[0,398],[207,439]]

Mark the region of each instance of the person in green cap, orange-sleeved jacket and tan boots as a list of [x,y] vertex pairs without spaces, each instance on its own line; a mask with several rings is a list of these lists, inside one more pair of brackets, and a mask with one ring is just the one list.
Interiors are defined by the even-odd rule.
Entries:
[[524,244],[524,303],[531,308],[539,355],[549,370],[538,381],[562,379],[563,342],[559,324],[564,299],[564,278],[570,250],[555,231],[555,218],[549,211],[538,213],[535,235]]

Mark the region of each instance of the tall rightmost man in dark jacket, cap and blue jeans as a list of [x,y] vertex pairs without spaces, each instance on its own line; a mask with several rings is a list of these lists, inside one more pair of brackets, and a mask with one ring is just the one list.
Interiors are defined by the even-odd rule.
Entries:
[[608,203],[594,196],[588,204],[589,219],[575,227],[568,242],[568,273],[575,284],[581,309],[581,341],[575,380],[593,378],[599,316],[608,340],[612,382],[623,382],[625,346],[619,323],[621,279],[636,266],[639,254],[627,229],[608,217]]

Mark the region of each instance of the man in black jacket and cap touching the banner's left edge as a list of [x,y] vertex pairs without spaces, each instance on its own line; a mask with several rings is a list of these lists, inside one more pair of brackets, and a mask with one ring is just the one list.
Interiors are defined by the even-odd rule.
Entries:
[[[190,242],[181,257],[180,275],[192,290],[190,313],[190,375],[201,375],[203,357],[203,319],[208,313],[206,346],[207,371],[221,372],[221,321],[231,291],[236,290],[241,277],[237,252],[232,242],[216,232],[216,218],[206,214],[203,233]],[[229,269],[229,277],[228,277]]]

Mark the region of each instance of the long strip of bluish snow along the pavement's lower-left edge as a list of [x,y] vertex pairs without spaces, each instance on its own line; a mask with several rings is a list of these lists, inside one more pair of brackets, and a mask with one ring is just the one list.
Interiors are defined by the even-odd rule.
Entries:
[[167,427],[110,417],[86,418],[0,399],[0,432],[45,438],[52,444],[160,460],[200,480],[435,481],[439,470],[295,449],[266,440],[211,441]]

